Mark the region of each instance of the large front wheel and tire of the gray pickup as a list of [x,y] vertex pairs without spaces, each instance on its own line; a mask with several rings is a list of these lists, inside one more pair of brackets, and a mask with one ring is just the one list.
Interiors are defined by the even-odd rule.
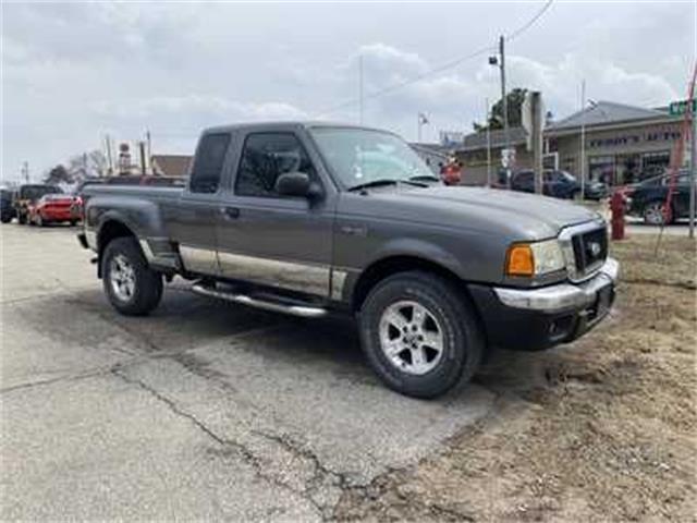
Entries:
[[[415,318],[417,307],[425,320]],[[436,398],[468,381],[484,353],[466,296],[428,272],[401,272],[379,282],[363,304],[358,325],[372,369],[389,388],[414,398]],[[419,353],[420,362],[413,357]]]

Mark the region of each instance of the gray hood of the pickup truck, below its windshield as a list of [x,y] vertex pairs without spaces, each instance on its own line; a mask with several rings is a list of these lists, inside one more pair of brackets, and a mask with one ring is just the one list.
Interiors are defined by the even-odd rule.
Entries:
[[[599,219],[579,205],[547,196],[498,188],[435,185],[381,188],[365,196],[380,215],[480,232],[505,230],[521,239],[554,236],[564,227]],[[408,209],[408,218],[402,210]]]

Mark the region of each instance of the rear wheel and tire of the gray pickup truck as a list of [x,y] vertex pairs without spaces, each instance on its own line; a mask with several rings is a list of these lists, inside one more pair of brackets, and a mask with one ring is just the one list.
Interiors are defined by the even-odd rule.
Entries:
[[105,293],[111,305],[125,316],[145,316],[162,299],[162,276],[150,269],[138,242],[117,238],[101,257]]

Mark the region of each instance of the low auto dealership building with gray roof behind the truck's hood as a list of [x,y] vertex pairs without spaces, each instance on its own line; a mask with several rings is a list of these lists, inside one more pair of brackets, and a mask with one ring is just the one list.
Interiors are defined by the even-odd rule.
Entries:
[[[543,132],[546,168],[562,169],[579,178],[582,130],[585,136],[585,173],[588,180],[611,185],[632,183],[656,175],[670,163],[671,150],[681,137],[682,117],[668,108],[645,109],[599,101],[570,117],[549,123]],[[455,155],[464,167],[463,183],[496,181],[501,169],[503,131],[466,135]],[[531,169],[524,129],[509,130],[508,143],[515,148],[514,170]]]

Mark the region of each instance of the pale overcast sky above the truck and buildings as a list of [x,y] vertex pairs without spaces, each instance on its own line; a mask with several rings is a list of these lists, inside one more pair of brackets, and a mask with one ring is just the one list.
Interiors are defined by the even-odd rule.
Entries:
[[519,32],[545,4],[2,2],[1,179],[27,161],[39,180],[107,134],[149,131],[152,153],[192,154],[217,124],[357,123],[360,76],[364,124],[415,141],[423,112],[424,142],[472,132],[500,96],[488,56],[516,33],[508,87],[540,90],[558,119],[578,110],[583,80],[595,100],[685,97],[697,2],[557,0]]

